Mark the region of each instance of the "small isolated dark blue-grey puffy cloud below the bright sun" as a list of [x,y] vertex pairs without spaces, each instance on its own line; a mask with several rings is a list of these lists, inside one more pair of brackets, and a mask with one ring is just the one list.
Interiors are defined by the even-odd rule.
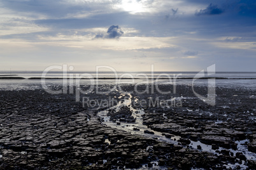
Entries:
[[110,28],[108,28],[108,31],[106,34],[97,34],[94,39],[98,38],[106,38],[106,39],[118,39],[124,34],[122,29],[118,25],[111,25]]

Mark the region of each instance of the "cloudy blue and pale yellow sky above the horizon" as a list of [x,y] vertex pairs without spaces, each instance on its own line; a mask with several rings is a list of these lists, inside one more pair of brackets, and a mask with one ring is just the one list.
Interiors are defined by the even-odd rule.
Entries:
[[255,0],[1,0],[0,70],[256,72]]

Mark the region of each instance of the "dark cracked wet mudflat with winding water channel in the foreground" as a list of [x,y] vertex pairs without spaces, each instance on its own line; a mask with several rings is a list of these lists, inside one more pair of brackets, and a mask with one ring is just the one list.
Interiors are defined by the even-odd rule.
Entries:
[[[138,90],[145,88],[141,85]],[[173,91],[171,85],[159,88]],[[255,91],[217,88],[217,103],[211,106],[197,98],[190,86],[177,86],[176,93],[169,95],[157,89],[134,93],[132,85],[122,89],[81,96],[116,101],[99,106],[82,105],[82,98],[76,102],[75,95],[50,95],[43,89],[1,91],[0,167],[255,167]],[[207,93],[203,86],[195,90]]]

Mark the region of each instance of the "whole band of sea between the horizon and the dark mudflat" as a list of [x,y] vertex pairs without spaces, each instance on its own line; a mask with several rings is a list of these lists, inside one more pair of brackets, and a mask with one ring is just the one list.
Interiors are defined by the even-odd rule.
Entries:
[[[0,71],[0,89],[1,90],[19,90],[19,89],[37,89],[41,88],[41,75],[40,71]],[[115,77],[120,80],[120,83],[137,83],[145,82],[157,82],[162,84],[169,83],[168,77],[178,77],[176,84],[192,85],[193,78],[198,72],[48,72],[45,77],[48,84],[62,84],[63,78],[75,78],[76,75],[85,75],[83,80],[80,80],[80,84],[90,84],[90,77],[99,77],[99,84],[115,84]],[[206,77],[216,77],[216,86],[229,87],[229,88],[250,88],[256,89],[256,72],[215,72],[215,74],[208,75]],[[73,77],[72,77],[73,76]],[[15,79],[4,79],[7,77],[15,77]],[[23,79],[16,79],[22,77]],[[131,81],[131,78],[134,81]],[[158,80],[156,80],[159,78]],[[152,80],[153,79],[153,80]],[[207,86],[207,79],[198,79],[194,82],[194,86]]]

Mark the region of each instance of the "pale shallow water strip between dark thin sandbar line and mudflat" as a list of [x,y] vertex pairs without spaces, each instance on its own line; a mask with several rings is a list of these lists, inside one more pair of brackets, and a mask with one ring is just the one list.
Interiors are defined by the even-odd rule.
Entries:
[[[63,86],[65,83],[62,79],[47,79],[47,86]],[[30,90],[30,89],[41,89],[42,81],[39,79],[0,79],[0,90]],[[75,80],[67,80],[67,86],[76,86]],[[98,85],[127,85],[127,84],[173,84],[173,85],[187,85],[187,86],[208,86],[208,81],[206,79],[197,80],[192,84],[192,79],[178,79],[175,82],[167,81],[164,79],[159,79],[158,81],[146,80],[146,79],[134,79],[118,81],[115,79],[99,79],[99,80],[86,80],[82,79],[78,81],[81,86],[95,86]],[[256,89],[256,80],[255,79],[217,79],[215,81],[216,87],[223,88],[246,88],[246,89]],[[65,84],[64,84],[65,85]],[[210,84],[212,85],[212,84]],[[108,88],[108,87],[106,87]],[[252,98],[255,96],[251,96]]]

